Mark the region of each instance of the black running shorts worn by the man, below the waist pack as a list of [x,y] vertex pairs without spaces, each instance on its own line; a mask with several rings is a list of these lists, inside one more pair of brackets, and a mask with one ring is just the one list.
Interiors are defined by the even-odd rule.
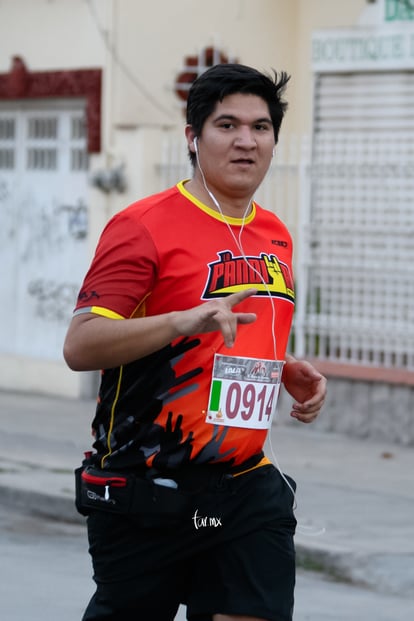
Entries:
[[83,621],[172,621],[180,603],[191,621],[292,619],[296,520],[280,473],[268,465],[207,477],[190,497],[191,510],[173,520],[88,516],[97,589]]

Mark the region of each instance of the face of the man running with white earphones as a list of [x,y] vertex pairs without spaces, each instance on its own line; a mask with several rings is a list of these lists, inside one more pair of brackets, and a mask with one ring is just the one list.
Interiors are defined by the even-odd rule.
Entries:
[[[190,142],[191,128],[187,138]],[[197,146],[213,194],[249,200],[269,168],[275,146],[267,103],[257,95],[228,95],[207,117]],[[195,175],[200,175],[197,166]]]

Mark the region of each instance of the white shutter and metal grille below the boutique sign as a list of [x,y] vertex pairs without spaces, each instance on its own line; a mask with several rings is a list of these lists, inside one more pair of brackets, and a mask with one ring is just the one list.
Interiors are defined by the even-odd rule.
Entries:
[[317,83],[300,354],[414,369],[412,77]]

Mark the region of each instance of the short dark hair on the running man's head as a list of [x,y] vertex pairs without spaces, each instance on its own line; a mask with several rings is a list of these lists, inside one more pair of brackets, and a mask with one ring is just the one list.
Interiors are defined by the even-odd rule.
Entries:
[[[244,93],[265,100],[277,142],[287,109],[287,102],[282,99],[282,95],[290,76],[284,71],[279,75],[275,70],[273,73],[271,76],[236,63],[214,65],[202,73],[191,85],[187,100],[187,123],[192,126],[196,136],[201,135],[204,123],[217,102],[223,101],[227,95]],[[189,152],[189,156],[194,164],[194,153]]]

